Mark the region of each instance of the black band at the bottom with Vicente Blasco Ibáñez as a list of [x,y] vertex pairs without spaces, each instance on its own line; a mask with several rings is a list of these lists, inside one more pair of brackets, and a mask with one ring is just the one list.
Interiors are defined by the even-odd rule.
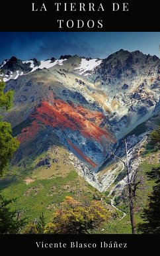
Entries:
[[[106,253],[106,255],[157,255],[159,235],[1,235],[0,248],[5,255],[54,255],[54,253]],[[71,242],[96,244],[96,247],[71,247]],[[58,243],[55,247],[37,247],[37,243]],[[105,243],[106,247],[100,247]],[[60,247],[61,243],[61,247]],[[66,247],[62,247],[65,243]],[[110,247],[112,244],[112,247]],[[116,245],[118,244],[118,247]],[[94,245],[93,245],[94,246]],[[129,254],[128,254],[129,253]]]

